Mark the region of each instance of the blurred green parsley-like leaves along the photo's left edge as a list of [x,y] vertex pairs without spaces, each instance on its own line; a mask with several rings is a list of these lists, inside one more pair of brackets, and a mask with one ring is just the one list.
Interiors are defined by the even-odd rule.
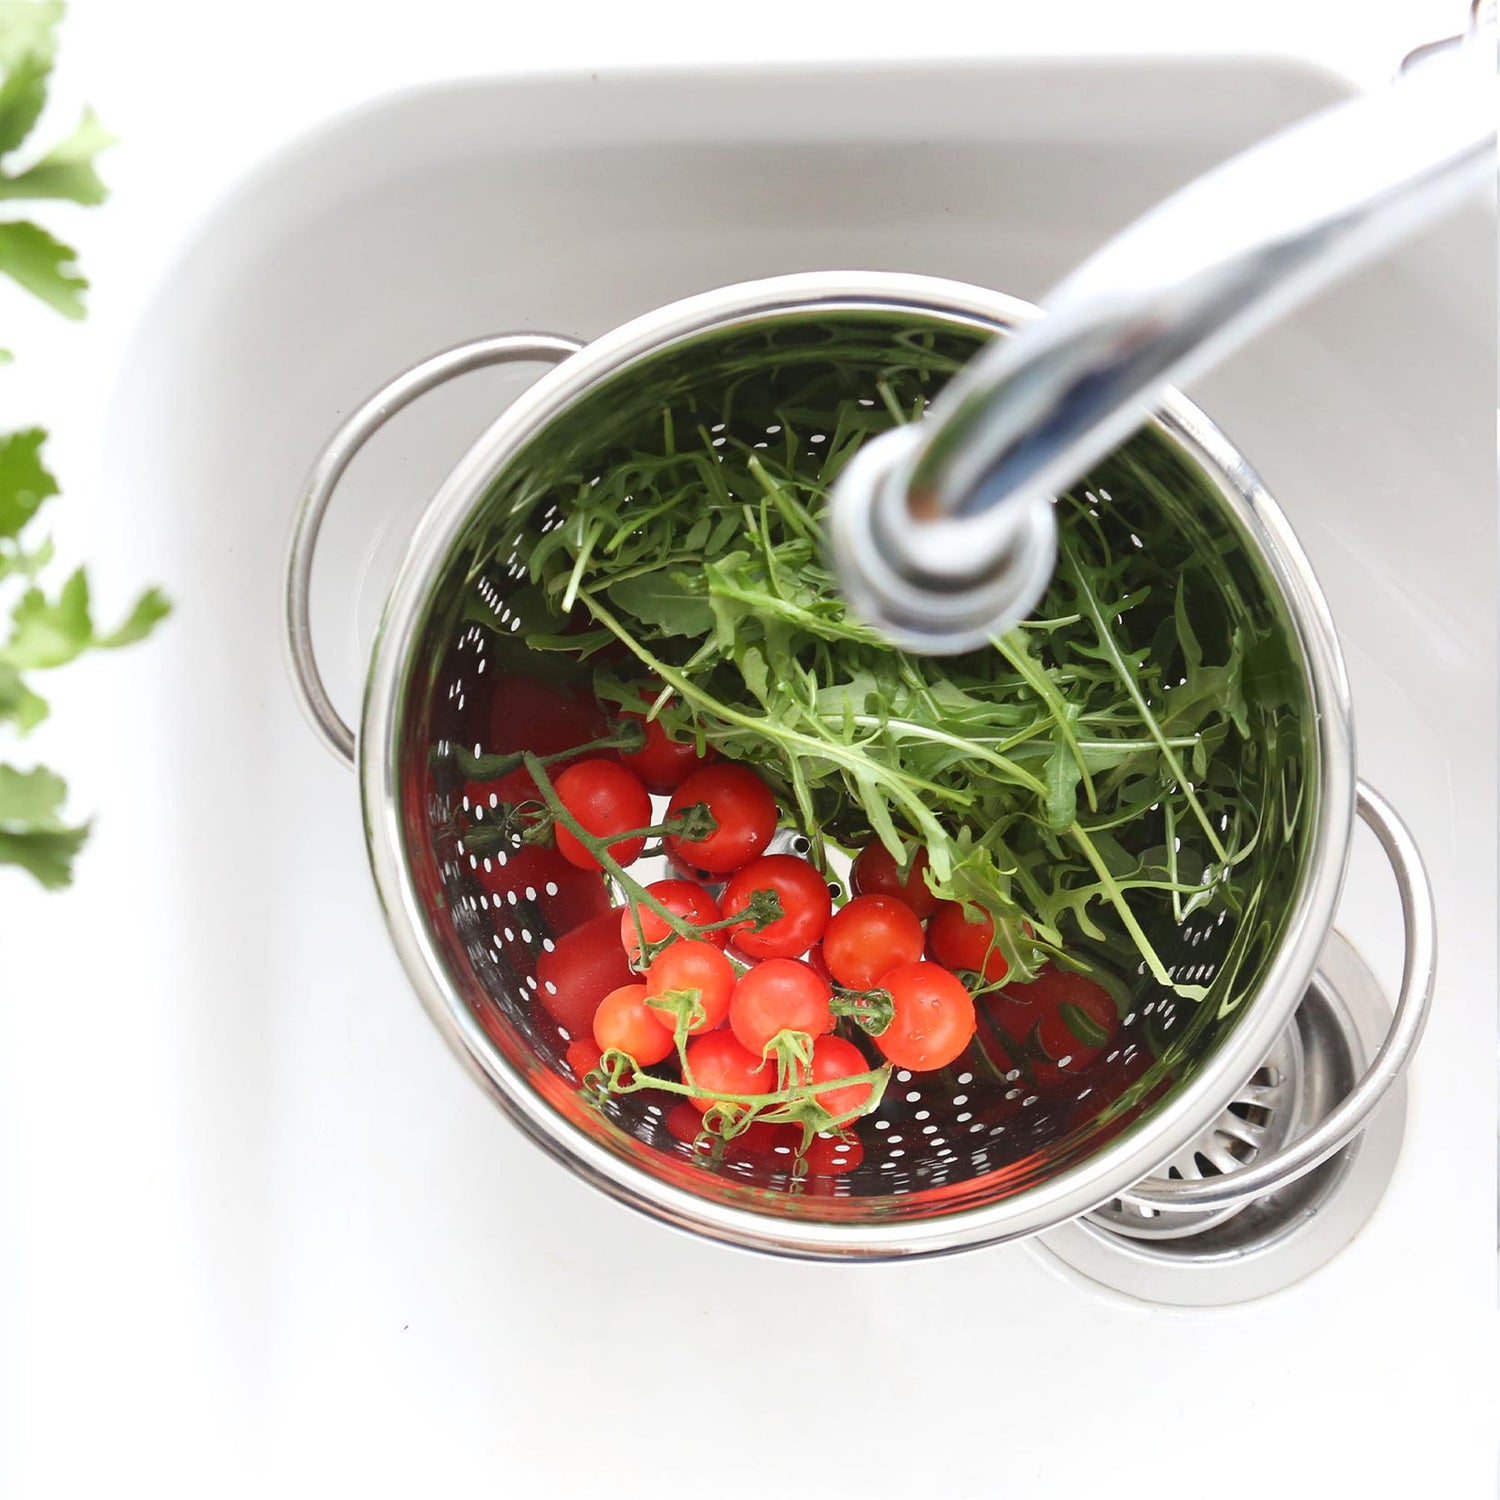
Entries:
[[[24,153],[42,110],[56,57],[63,8],[57,3],[0,3],[0,200],[102,202],[94,158],[110,135],[88,111],[68,136],[40,153]],[[69,318],[84,314],[87,282],[75,252],[28,220],[0,222],[0,272]],[[0,724],[26,735],[48,711],[30,675],[64,666],[84,651],[114,650],[150,634],[170,606],[147,590],[112,630],[93,620],[88,576],[70,573],[51,591],[44,573],[52,543],[36,532],[38,514],[57,495],[57,480],[42,458],[40,428],[0,434]],[[0,764],[0,864],[30,872],[44,886],[66,885],[87,825],[63,816],[68,786],[56,772]]]

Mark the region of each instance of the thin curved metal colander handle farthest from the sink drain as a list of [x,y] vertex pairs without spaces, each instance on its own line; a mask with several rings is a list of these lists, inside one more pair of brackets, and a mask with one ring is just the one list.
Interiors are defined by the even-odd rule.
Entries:
[[525,360],[542,360],[556,364],[584,345],[578,339],[564,339],[548,333],[492,333],[483,339],[459,344],[441,354],[432,354],[420,364],[398,375],[369,398],[324,444],[306,488],[297,501],[291,546],[286,552],[286,652],[291,663],[292,682],[302,700],[308,722],[318,738],[345,765],[354,765],[354,730],[344,722],[328,688],[318,670],[318,657],[312,645],[312,624],[308,604],[312,594],[312,560],[318,549],[318,532],[327,514],[328,501],[344,478],[354,454],[364,447],[380,429],[396,416],[402,406],[411,405],[418,396],[471,370],[490,364],[514,364]]

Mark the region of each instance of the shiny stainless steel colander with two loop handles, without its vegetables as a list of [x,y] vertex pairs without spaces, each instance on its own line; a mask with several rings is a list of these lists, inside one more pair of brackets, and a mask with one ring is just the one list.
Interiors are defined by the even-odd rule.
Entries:
[[[1125,470],[1107,502],[1170,504],[1191,544],[1233,558],[1234,608],[1274,624],[1296,680],[1290,706],[1254,726],[1252,740],[1281,753],[1248,754],[1239,768],[1268,828],[1254,855],[1264,898],[1248,915],[1220,902],[1182,922],[1170,909],[1152,918],[1174,978],[1208,998],[1180,999],[1138,974],[1108,1054],[1048,1088],[1029,1086],[981,1026],[952,1068],[894,1074],[878,1113],[858,1125],[862,1161],[837,1176],[798,1176],[790,1154],[776,1149],[708,1160],[669,1128],[669,1100],[639,1094],[597,1106],[570,1076],[570,1038],[546,1005],[544,956],[578,924],[578,908],[524,861],[465,848],[486,800],[465,784],[453,748],[496,748],[496,734],[508,736],[506,750],[524,744],[524,723],[496,724],[494,686],[552,672],[514,638],[510,600],[524,568],[494,552],[496,519],[564,524],[578,484],[660,432],[663,411],[690,411],[694,424],[723,423],[750,440],[789,404],[873,396],[878,381],[908,396],[927,382],[932,393],[945,362],[957,369],[1030,315],[1024,303],[956,282],[816,273],[690,297],[588,345],[480,339],[374,396],[314,470],[288,568],[292,663],[314,724],[357,760],[370,861],[402,962],[456,1054],[532,1140],[662,1220],[786,1254],[884,1258],[1011,1239],[1112,1202],[1124,1212],[1136,1204],[1218,1218],[1347,1142],[1419,1038],[1431,994],[1431,897],[1410,837],[1356,788],[1348,692],[1326,604],[1254,472],[1173,394],[1125,450],[1158,483],[1132,494]],[[918,345],[938,358],[914,362]],[[318,675],[308,622],[328,500],[394,411],[441,381],[513,360],[555,368],[478,438],[417,526],[386,608],[356,742]],[[1154,1176],[1214,1136],[1286,1032],[1330,930],[1356,807],[1392,858],[1407,932],[1386,1046],[1310,1136],[1268,1143],[1230,1128],[1239,1146],[1204,1158],[1202,1174]]]

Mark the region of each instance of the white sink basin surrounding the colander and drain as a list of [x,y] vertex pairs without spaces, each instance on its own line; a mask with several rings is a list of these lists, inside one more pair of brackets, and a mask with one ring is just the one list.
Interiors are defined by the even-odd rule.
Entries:
[[[1298,1494],[1394,1494],[1430,1479],[1432,1452],[1454,1466],[1449,1492],[1490,1482],[1488,1444],[1464,1443],[1494,1404],[1472,1374],[1491,1362],[1492,1306],[1484,208],[1190,392],[1311,555],[1348,658],[1359,770],[1416,832],[1442,924],[1386,1198],[1338,1260],[1264,1302],[1148,1310],[1026,1245],[914,1266],[777,1263],[573,1180],[464,1077],[410,993],[354,780],[302,723],[282,664],[297,488],[340,417],[422,356],[507,328],[588,338],[692,291],[818,267],[1036,296],[1173,186],[1336,92],[1252,62],[494,81],[376,102],[222,204],[141,324],[108,426],[105,500],[138,518],[180,620],[129,678],[153,705],[148,758],[108,789],[116,832],[66,916],[92,984],[114,963],[152,964],[156,1044],[132,1092],[172,1128],[159,1160],[108,1182],[78,1152],[75,1190],[104,1206],[93,1258],[54,1258],[42,1221],[22,1232],[26,1336],[52,1350],[34,1366],[38,1412],[108,1402],[122,1430],[135,1413],[159,1431],[172,1410],[192,1432],[182,1455],[243,1454],[261,1492],[447,1492],[476,1476],[576,1492],[588,1432],[616,1455],[621,1500],[722,1472],[726,1442],[742,1444],[746,1476],[844,1496],[843,1462],[870,1468],[860,1492],[894,1497],[930,1482],[927,1442],[878,1458],[838,1444],[836,1460],[814,1432],[831,1430],[825,1413],[844,1432],[885,1412],[910,1420],[916,1401],[926,1431],[963,1434],[970,1454],[999,1414],[993,1474],[975,1462],[964,1494],[1076,1494],[1080,1432],[1098,1454],[1140,1452],[1164,1422],[1176,1470],[1220,1473],[1239,1413],[1254,1425],[1234,1431],[1236,1462],[1264,1452],[1268,1490],[1292,1464]],[[314,626],[348,717],[423,500],[526,378],[490,372],[428,398],[340,490]],[[102,723],[124,692],[100,675]],[[134,957],[88,951],[94,903],[120,902]],[[1395,894],[1365,834],[1340,926],[1394,990]],[[39,1062],[60,1086],[78,1044],[66,1024]],[[120,1232],[118,1258],[110,1204],[150,1226]],[[147,1258],[154,1304],[136,1290]],[[123,1352],[64,1358],[92,1318],[118,1326],[122,1304]],[[153,1340],[152,1380],[132,1380],[129,1346]],[[1371,1410],[1402,1420],[1378,1444],[1326,1440],[1368,1431]],[[668,1434],[674,1412],[705,1420]],[[658,1438],[645,1450],[642,1422]],[[70,1492],[114,1472],[118,1449],[48,1444],[48,1431],[24,1438],[22,1474],[62,1474]],[[1108,1484],[1156,1496],[1160,1473],[1116,1460]]]

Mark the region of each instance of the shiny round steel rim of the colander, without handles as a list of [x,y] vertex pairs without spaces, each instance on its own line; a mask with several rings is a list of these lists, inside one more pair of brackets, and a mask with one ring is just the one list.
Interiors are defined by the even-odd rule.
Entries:
[[1299,872],[1299,904],[1260,992],[1198,1076],[1149,1122],[1122,1132],[1058,1176],[1008,1198],[930,1218],[818,1221],[699,1197],[609,1150],[556,1112],[483,1032],[448,982],[426,932],[402,854],[398,789],[404,684],[428,604],[453,548],[495,477],[568,405],[632,364],[747,320],[824,312],[902,312],[1006,332],[1038,316],[1030,303],[968,282],[892,272],[802,272],[736,282],[620,324],[548,369],[470,446],[412,532],[387,597],[366,676],[357,764],[366,843],[398,956],[440,1034],[486,1094],[554,1160],[616,1202],[741,1248],[818,1260],[891,1260],[945,1254],[1040,1233],[1086,1214],[1149,1176],[1224,1108],[1290,1022],[1332,927],[1354,820],[1353,711],[1338,636],[1323,591],[1290,524],[1248,460],[1179,392],[1152,426],[1212,478],[1238,530],[1280,590],[1302,646],[1317,718],[1314,826]]

